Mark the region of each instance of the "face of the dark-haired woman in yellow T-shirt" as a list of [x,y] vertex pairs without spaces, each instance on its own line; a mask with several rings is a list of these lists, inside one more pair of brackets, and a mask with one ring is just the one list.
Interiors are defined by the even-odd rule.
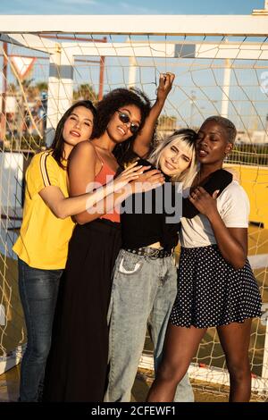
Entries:
[[93,130],[93,113],[85,106],[74,108],[64,122],[63,139],[70,146],[76,146],[90,139]]

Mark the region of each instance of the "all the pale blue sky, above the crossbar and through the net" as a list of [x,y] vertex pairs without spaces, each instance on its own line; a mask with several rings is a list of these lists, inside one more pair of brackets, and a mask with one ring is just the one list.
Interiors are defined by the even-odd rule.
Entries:
[[[253,9],[262,9],[263,7],[264,0],[0,0],[0,14],[251,14]],[[113,37],[112,42],[118,41],[118,37]],[[121,42],[124,38],[119,40]],[[241,38],[239,42],[243,42],[243,39]],[[264,40],[262,42],[267,43]],[[15,47],[9,46],[9,54],[32,55],[33,53],[29,49],[17,51]],[[138,60],[137,86],[144,90],[153,101],[155,99],[155,81],[158,80],[159,72],[174,71],[176,80],[165,105],[165,112],[175,115],[178,122],[185,124],[192,120],[194,124],[200,124],[201,120],[204,120],[209,114],[221,111],[224,67],[221,61],[203,60],[198,62],[198,64],[200,63],[200,68],[198,68],[198,66],[195,67],[197,65],[195,61],[188,63],[188,60],[185,60],[184,66],[181,65],[184,62],[177,59],[155,60],[154,63],[148,63],[148,60]],[[42,60],[36,63],[30,76],[34,82],[47,80],[48,64],[48,61],[42,62]],[[216,66],[221,64],[221,68],[213,68],[214,64]],[[242,64],[253,66],[255,62],[243,62]],[[267,63],[265,64],[267,65]],[[0,69],[1,65],[0,59]],[[204,65],[207,67],[202,68]],[[259,80],[263,71],[265,69],[262,68],[248,70],[238,68],[236,71],[232,71],[230,117],[239,128],[254,124],[260,126],[260,119],[264,122],[264,116],[267,113],[267,97],[259,88]],[[89,82],[97,92],[99,86],[98,64],[77,63],[74,80],[75,86]],[[128,80],[129,60],[106,57],[105,92],[125,85]],[[8,81],[13,81],[11,71],[9,71]],[[1,84],[2,78],[0,78],[0,91]],[[195,99],[190,101],[189,97],[195,97]],[[257,118],[257,113],[260,118]]]

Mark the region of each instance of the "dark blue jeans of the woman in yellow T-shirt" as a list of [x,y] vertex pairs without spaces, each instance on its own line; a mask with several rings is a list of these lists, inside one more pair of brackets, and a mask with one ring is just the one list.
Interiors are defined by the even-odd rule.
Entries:
[[19,289],[27,327],[21,361],[20,401],[38,401],[51,344],[54,309],[63,270],[40,270],[18,259]]

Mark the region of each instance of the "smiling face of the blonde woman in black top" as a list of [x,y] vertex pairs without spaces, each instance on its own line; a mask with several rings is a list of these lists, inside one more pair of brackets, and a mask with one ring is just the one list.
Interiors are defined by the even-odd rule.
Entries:
[[166,175],[180,175],[180,173],[188,169],[191,160],[192,152],[189,150],[187,143],[178,139],[163,148],[159,166]]

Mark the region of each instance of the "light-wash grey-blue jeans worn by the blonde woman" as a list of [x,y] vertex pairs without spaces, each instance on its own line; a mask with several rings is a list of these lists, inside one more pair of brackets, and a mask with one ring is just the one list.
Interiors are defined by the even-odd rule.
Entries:
[[[110,374],[106,402],[130,401],[147,326],[154,344],[157,370],[176,294],[177,269],[172,256],[152,258],[121,249],[114,266],[108,313]],[[178,385],[174,401],[193,400],[186,374]]]

